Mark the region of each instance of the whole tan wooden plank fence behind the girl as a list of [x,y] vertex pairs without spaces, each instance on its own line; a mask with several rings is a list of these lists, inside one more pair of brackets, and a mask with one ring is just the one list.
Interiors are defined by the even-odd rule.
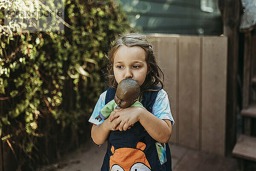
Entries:
[[149,36],[175,119],[170,141],[224,155],[227,38]]

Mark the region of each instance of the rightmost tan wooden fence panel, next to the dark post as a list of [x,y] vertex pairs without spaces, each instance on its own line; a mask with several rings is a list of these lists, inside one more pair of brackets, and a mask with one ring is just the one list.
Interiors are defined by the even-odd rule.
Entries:
[[227,38],[203,38],[202,150],[225,153]]

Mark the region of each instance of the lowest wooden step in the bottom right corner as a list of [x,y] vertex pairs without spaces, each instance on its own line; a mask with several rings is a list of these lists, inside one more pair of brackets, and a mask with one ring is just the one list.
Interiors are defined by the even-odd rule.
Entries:
[[246,135],[239,136],[232,154],[241,159],[256,162],[256,137]]

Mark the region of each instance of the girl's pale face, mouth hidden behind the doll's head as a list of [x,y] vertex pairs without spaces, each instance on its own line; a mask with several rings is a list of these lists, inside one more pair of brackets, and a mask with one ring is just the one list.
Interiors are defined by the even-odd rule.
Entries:
[[149,72],[145,51],[139,46],[120,46],[114,55],[113,71],[117,83],[132,78],[141,86]]

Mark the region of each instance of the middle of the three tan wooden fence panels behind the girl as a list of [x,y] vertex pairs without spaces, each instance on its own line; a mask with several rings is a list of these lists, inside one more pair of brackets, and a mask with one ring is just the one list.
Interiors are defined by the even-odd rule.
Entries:
[[180,37],[179,143],[199,148],[200,38]]

